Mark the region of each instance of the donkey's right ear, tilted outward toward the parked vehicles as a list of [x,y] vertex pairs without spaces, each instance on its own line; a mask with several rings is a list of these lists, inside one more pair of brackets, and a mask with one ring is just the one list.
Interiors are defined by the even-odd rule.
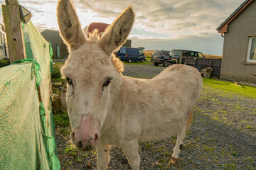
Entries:
[[128,7],[110,26],[100,38],[103,50],[111,54],[117,47],[124,44],[134,23],[134,11],[132,6]]

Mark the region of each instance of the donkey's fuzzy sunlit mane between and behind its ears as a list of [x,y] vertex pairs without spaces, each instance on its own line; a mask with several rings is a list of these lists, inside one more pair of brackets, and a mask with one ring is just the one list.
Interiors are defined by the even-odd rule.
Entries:
[[[89,38],[87,38],[87,41],[90,43],[95,43],[98,40],[100,40],[100,33],[99,33],[99,30],[95,29],[93,30],[92,33],[89,33]],[[117,52],[117,50],[115,51]],[[119,60],[119,58],[117,58],[114,54],[111,57],[111,61],[112,61],[112,64],[114,64],[114,67],[117,68],[117,71],[119,73],[124,72],[124,63],[121,60]]]

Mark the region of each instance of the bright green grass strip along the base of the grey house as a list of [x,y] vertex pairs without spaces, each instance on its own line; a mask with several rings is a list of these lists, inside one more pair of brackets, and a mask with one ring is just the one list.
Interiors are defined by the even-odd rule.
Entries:
[[238,94],[247,98],[256,99],[256,88],[251,86],[237,86],[229,81],[220,81],[215,79],[203,79],[203,86],[210,86],[214,89],[228,91],[232,94]]

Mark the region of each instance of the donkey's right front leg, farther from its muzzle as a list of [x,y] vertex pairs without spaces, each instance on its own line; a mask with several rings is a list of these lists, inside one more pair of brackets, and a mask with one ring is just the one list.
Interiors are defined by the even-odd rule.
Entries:
[[133,170],[139,170],[140,157],[138,148],[139,145],[137,141],[127,142],[126,145],[122,146],[122,149],[124,149],[124,154],[127,156],[129,161],[129,165]]

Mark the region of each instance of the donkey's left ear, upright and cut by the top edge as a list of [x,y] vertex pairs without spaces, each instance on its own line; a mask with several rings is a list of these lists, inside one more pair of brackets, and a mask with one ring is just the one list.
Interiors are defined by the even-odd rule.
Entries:
[[71,49],[80,47],[86,39],[72,0],[58,0],[57,17],[60,35],[65,43]]

